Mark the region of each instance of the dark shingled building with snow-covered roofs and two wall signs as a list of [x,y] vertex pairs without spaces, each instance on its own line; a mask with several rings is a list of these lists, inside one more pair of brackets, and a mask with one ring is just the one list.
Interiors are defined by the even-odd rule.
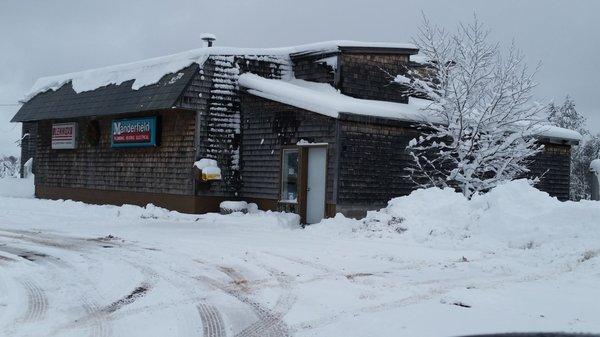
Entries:
[[[392,84],[410,44],[205,47],[42,78],[13,118],[36,195],[217,211],[224,200],[360,216],[414,189],[408,142],[426,102]],[[577,133],[540,130],[539,185],[569,194]],[[204,159],[204,160],[203,160]]]

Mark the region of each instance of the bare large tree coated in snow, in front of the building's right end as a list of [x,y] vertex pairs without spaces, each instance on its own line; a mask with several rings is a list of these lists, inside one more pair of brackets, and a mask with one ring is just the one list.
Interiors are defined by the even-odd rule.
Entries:
[[424,18],[415,44],[428,72],[398,75],[412,95],[427,96],[431,122],[410,142],[411,178],[420,186],[451,186],[466,197],[528,171],[541,148],[531,137],[544,107],[531,99],[530,72],[514,43],[502,49],[475,17],[449,33]]

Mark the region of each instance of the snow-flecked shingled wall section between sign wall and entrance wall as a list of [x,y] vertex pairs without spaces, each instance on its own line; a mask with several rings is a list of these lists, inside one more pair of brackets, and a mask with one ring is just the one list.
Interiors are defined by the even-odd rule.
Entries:
[[235,198],[240,190],[239,75],[252,72],[280,78],[284,71],[289,71],[289,64],[274,56],[214,55],[192,78],[178,106],[197,111],[196,159],[217,160],[223,178],[197,182],[197,195]]

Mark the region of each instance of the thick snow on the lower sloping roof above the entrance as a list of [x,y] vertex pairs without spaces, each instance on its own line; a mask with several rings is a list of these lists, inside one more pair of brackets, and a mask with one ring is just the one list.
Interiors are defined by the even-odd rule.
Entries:
[[239,84],[252,95],[338,118],[340,113],[426,122],[423,109],[429,101],[411,98],[408,104],[358,99],[341,94],[326,83],[299,79],[267,79],[255,74],[240,75]]

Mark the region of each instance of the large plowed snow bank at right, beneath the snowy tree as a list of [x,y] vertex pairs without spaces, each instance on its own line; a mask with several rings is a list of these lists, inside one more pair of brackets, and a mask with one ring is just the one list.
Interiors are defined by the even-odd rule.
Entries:
[[501,252],[600,249],[600,202],[561,202],[516,180],[471,200],[452,189],[420,189],[392,199],[361,221],[338,214],[311,228],[330,234],[377,236],[436,248]]

